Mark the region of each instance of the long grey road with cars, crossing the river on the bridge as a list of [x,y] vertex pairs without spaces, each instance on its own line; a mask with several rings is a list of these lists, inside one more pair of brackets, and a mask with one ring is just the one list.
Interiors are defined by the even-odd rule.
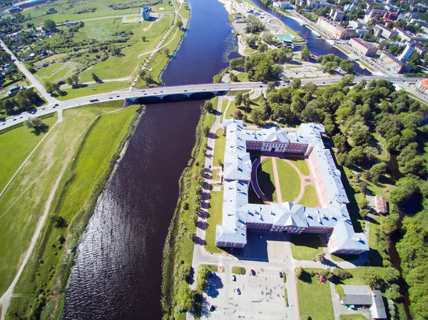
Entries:
[[[28,72],[28,71],[27,71]],[[32,75],[31,75],[32,76]],[[302,85],[308,82],[315,83],[317,86],[329,85],[337,83],[341,78],[340,77],[325,77],[325,78],[312,78],[312,79],[301,79]],[[355,77],[355,82],[360,82],[362,79],[365,81],[385,79],[398,83],[414,83],[419,80],[419,78],[404,78],[404,77],[379,77],[379,76],[357,76]],[[279,81],[278,88],[283,86],[288,86],[289,83],[286,81]],[[185,86],[164,86],[156,88],[145,88],[141,90],[133,91],[117,91],[111,93],[101,93],[94,96],[86,96],[83,98],[76,98],[67,101],[58,101],[53,99],[49,101],[48,105],[36,110],[36,113],[21,113],[21,115],[16,115],[14,117],[7,118],[6,121],[2,122],[0,125],[0,130],[8,128],[11,125],[16,123],[21,123],[24,120],[31,117],[39,117],[48,113],[57,111],[59,116],[62,116],[62,110],[68,108],[75,108],[80,105],[91,104],[89,100],[96,99],[96,102],[103,102],[109,100],[125,100],[126,98],[135,99],[135,98],[148,98],[148,97],[160,97],[173,95],[173,94],[184,94],[190,96],[192,93],[203,93],[203,92],[218,92],[218,91],[230,91],[230,90],[245,90],[245,89],[256,89],[256,88],[266,88],[265,83],[261,82],[245,82],[245,83],[204,83],[204,84],[195,84],[195,85],[185,85]],[[160,100],[161,102],[161,100]],[[56,105],[57,104],[57,105]]]

